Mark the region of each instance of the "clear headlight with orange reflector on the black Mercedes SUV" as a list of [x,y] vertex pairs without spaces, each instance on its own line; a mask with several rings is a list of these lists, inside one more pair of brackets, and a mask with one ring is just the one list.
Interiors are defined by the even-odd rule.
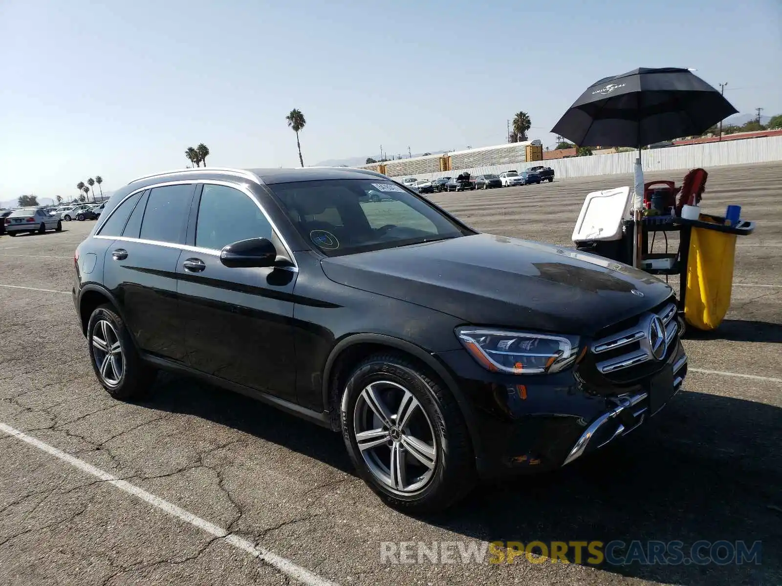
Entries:
[[576,362],[575,336],[457,327],[456,335],[486,370],[512,374],[558,373]]

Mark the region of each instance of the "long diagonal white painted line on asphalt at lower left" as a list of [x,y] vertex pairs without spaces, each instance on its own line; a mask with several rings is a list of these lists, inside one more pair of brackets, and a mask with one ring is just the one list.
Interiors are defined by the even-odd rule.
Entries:
[[63,452],[62,450],[55,448],[52,445],[48,445],[37,438],[33,438],[31,435],[24,434],[10,425],[0,423],[0,431],[5,431],[6,434],[20,439],[21,441],[25,441],[35,448],[47,452],[48,454],[63,460],[63,462],[69,463],[71,466],[77,467],[82,472],[91,474],[92,476],[97,477],[102,481],[106,481],[108,484],[112,484],[115,488],[119,488],[120,491],[125,491],[129,495],[140,498],[142,501],[149,503],[157,509],[160,509],[163,511],[163,513],[166,513],[169,516],[173,516],[176,519],[185,521],[185,523],[190,523],[194,527],[198,527],[201,531],[205,531],[206,533],[213,535],[216,538],[224,539],[226,543],[230,543],[235,548],[239,548],[243,552],[249,553],[250,556],[256,557],[270,566],[274,566],[274,568],[281,571],[282,573],[285,573],[285,575],[292,577],[294,580],[299,581],[301,584],[308,584],[308,586],[336,586],[335,582],[328,581],[325,578],[310,572],[310,570],[306,570],[296,563],[293,563],[289,559],[278,556],[277,554],[272,553],[264,548],[256,548],[256,546],[253,545],[250,541],[247,541],[244,538],[240,538],[238,535],[229,533],[222,527],[218,527],[217,525],[210,523],[209,521],[202,519],[199,516],[195,516],[193,513],[190,513],[189,511],[174,505],[174,503],[168,502],[159,496],[152,495],[151,492],[147,492],[135,484],[120,480],[116,476],[113,476],[104,470],[100,470],[99,468],[84,462],[84,460],[71,456],[70,454]]

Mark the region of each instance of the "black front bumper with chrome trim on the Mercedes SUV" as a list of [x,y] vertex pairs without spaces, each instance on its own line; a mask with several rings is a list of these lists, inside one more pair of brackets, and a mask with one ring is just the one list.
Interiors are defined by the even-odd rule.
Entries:
[[[622,384],[596,376],[594,363],[586,360],[565,372],[522,377],[490,373],[465,350],[436,356],[468,403],[463,410],[477,436],[476,466],[485,478],[554,470],[602,448],[658,413],[687,374],[679,341],[657,371]],[[673,385],[654,388],[652,402],[651,381],[668,366]]]

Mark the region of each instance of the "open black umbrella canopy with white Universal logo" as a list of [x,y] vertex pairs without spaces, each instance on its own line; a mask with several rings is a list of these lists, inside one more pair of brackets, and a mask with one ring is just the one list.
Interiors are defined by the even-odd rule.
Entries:
[[702,134],[737,113],[690,70],[640,67],[587,88],[551,129],[579,146],[640,148]]

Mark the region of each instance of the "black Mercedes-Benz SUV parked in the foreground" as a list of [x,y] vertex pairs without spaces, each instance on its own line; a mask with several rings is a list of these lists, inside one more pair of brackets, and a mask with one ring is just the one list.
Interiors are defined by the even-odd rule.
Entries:
[[411,511],[572,462],[654,415],[687,371],[662,281],[479,234],[371,171],[143,177],[74,265],[113,397],[167,369],[269,402],[341,431],[361,477]]

